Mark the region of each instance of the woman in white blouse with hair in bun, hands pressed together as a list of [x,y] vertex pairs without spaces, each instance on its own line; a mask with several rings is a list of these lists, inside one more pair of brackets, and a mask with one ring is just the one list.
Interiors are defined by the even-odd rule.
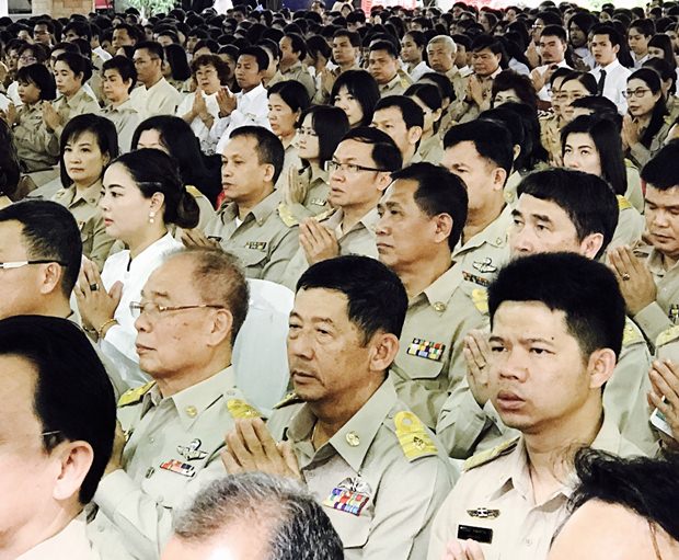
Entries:
[[[111,255],[101,276],[85,260],[76,298],[83,327],[99,339],[103,352],[116,363],[120,362],[118,354],[138,363],[129,304],[139,301],[148,277],[164,258],[183,249],[168,226],[195,227],[198,206],[172,159],[154,149],[131,151],[113,161],[103,188],[100,206],[106,232],[128,249]],[[127,381],[135,385],[134,379]]]

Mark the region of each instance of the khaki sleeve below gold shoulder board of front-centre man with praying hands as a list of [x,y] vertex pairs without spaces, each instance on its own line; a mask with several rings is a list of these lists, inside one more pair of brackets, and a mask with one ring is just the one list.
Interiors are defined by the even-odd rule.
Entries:
[[393,490],[376,502],[362,558],[424,559],[434,516],[452,483],[452,469],[439,458],[416,459],[388,472],[381,485]]

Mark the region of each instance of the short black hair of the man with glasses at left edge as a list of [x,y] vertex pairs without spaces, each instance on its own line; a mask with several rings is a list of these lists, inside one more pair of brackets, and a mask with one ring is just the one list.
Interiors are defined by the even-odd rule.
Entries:
[[82,241],[68,208],[49,201],[25,199],[0,209],[0,222],[22,226],[22,243],[28,259],[54,259],[61,265],[61,293],[69,297],[78,281]]

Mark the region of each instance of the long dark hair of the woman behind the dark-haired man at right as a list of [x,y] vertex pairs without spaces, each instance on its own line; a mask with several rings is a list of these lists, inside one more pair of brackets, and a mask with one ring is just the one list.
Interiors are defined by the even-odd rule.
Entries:
[[561,153],[566,150],[571,134],[587,134],[594,141],[601,165],[601,179],[609,182],[615,194],[624,195],[628,190],[628,174],[622,155],[620,130],[612,121],[594,115],[582,115],[571,121],[561,130]]

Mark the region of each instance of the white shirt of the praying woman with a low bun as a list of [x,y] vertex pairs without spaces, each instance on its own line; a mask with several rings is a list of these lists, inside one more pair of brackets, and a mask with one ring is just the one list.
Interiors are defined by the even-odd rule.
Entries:
[[[137,330],[135,329],[135,318],[129,310],[129,304],[130,301],[139,301],[141,288],[143,288],[151,273],[164,262],[165,258],[182,249],[184,249],[184,245],[176,241],[172,235],[166,233],[147,247],[131,261],[128,250],[112,254],[106,259],[104,270],[102,271],[102,282],[106,292],[110,292],[116,282],[123,283],[123,296],[113,316],[118,324],[114,324],[108,329],[105,338],[107,344],[102,344],[102,352],[114,363],[119,361],[119,356],[110,355],[108,344],[122,353],[125,358],[137,364],[139,363],[139,356],[135,347]],[[125,367],[127,367],[127,364],[125,364]],[[122,375],[124,376],[125,374],[122,373]],[[146,382],[146,378],[142,377],[141,381]],[[139,385],[139,382],[130,382],[129,385]]]

